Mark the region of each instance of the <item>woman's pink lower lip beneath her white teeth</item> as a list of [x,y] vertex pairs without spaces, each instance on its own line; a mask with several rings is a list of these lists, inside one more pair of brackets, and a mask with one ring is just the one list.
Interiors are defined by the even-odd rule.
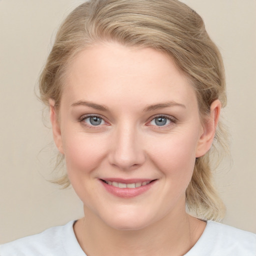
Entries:
[[124,198],[130,198],[130,197],[135,197],[138,196],[144,192],[146,192],[154,183],[156,180],[151,181],[150,183],[135,187],[135,188],[120,188],[112,185],[108,185],[105,183],[103,180],[100,179],[101,184],[105,187],[105,189],[118,197],[124,197]]

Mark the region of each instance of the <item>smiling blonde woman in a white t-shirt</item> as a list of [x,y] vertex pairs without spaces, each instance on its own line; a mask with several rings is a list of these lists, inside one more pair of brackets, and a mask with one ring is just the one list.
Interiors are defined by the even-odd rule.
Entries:
[[223,215],[211,161],[213,140],[223,146],[224,71],[188,6],[81,4],[57,33],[40,95],[66,162],[58,183],[70,181],[84,217],[1,255],[255,254],[254,234],[211,221]]

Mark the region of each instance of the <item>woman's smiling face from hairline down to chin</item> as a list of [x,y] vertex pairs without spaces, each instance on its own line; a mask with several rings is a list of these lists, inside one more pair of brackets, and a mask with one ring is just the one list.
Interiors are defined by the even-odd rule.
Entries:
[[170,58],[117,43],[81,51],[58,115],[51,107],[85,213],[117,229],[184,214],[195,157],[209,145],[195,93]]

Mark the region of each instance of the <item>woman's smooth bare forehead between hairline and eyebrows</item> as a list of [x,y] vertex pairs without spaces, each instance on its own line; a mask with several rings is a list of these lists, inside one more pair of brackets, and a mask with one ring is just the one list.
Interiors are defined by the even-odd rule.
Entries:
[[62,96],[69,103],[83,99],[137,105],[196,101],[192,86],[170,57],[152,48],[113,42],[92,45],[77,54],[67,69]]

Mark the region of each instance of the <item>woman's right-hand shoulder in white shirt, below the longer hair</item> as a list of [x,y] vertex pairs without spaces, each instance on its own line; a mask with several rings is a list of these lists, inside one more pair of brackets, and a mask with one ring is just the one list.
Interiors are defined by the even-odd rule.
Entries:
[[255,256],[256,234],[209,220],[199,240],[185,255]]

